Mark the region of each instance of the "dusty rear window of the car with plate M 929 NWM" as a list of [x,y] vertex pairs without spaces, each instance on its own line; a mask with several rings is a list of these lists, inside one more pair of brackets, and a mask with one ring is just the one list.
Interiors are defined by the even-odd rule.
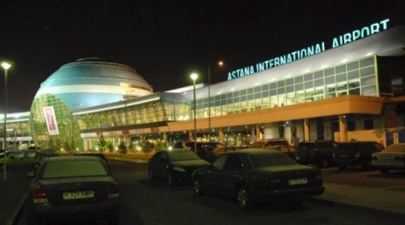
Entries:
[[101,176],[107,174],[107,170],[100,161],[71,160],[48,162],[42,177]]

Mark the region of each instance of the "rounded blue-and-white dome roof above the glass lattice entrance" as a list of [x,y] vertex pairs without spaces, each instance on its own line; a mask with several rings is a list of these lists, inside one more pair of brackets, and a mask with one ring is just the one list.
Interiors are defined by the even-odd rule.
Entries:
[[35,98],[51,94],[77,110],[152,93],[153,88],[134,68],[87,58],[61,66],[41,84]]

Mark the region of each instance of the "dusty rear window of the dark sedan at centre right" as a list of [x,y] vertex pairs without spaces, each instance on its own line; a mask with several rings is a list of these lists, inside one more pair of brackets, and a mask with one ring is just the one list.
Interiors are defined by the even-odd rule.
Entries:
[[281,166],[281,165],[295,165],[297,164],[293,159],[285,154],[251,154],[251,159],[255,167],[268,167],[268,166]]

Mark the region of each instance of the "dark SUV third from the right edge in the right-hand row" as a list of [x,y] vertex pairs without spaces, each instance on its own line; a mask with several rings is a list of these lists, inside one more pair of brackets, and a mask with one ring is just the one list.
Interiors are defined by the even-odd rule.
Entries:
[[334,164],[333,152],[338,145],[335,141],[307,141],[298,144],[295,160],[300,164],[315,164],[329,167]]

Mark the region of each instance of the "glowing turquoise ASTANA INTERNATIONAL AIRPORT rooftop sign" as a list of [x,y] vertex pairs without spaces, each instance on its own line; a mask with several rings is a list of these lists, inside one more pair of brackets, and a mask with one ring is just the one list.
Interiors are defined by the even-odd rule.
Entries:
[[[369,26],[365,26],[361,29],[353,30],[352,32],[348,32],[342,34],[340,36],[332,38],[332,49],[342,46],[343,44],[350,43],[352,41],[379,33],[383,30],[386,30],[388,27],[389,19],[382,20],[377,23],[373,23]],[[264,70],[268,70],[270,68],[281,66],[287,63],[291,63],[293,61],[313,56],[315,54],[324,52],[326,50],[325,41],[313,44],[312,46],[296,50],[294,52],[277,56],[272,59],[266,60],[264,62],[256,63],[256,65],[246,66],[244,68],[239,68],[237,70],[228,72],[228,80],[232,80],[239,77],[244,77],[250,75],[252,73],[258,73]]]

